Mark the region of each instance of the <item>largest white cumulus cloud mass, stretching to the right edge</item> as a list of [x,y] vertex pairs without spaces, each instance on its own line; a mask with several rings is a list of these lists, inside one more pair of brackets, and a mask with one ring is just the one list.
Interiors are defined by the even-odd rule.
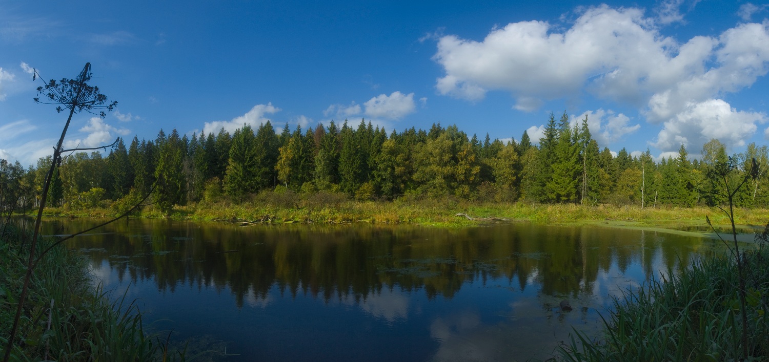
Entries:
[[[657,141],[661,151],[677,150],[676,137],[690,145],[708,137],[706,128],[687,125],[710,123],[712,117],[695,121],[692,117],[705,115],[693,110],[713,105],[747,122],[737,133],[750,137],[751,122],[755,126],[763,118],[731,110],[723,98],[769,72],[769,22],[738,24],[718,36],[677,42],[661,35],[658,26],[680,21],[681,5],[680,0],[661,2],[657,18],[638,8],[601,5],[582,10],[563,30],[548,22],[517,22],[495,27],[481,42],[443,35],[433,59],[444,75],[435,86],[442,95],[470,101],[484,98],[487,91],[509,91],[516,98],[513,107],[521,111],[537,109],[536,100],[588,92],[638,107],[647,121],[663,125]],[[742,13],[755,11],[748,6]],[[613,117],[607,140],[631,131],[619,115]],[[731,135],[721,141],[729,146],[741,142]]]

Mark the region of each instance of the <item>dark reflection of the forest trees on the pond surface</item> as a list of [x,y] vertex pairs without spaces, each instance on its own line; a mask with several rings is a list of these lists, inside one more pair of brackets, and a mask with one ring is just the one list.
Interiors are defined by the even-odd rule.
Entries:
[[[80,230],[91,221],[52,221],[49,230]],[[154,279],[161,291],[178,285],[229,287],[241,306],[249,293],[367,298],[383,288],[424,289],[451,298],[466,281],[504,278],[521,290],[534,281],[548,295],[592,293],[599,272],[641,264],[657,268],[688,261],[701,240],[600,227],[441,229],[314,225],[237,227],[180,221],[112,224],[112,234],[77,237],[69,246],[108,261],[122,281]],[[694,248],[693,248],[694,246]],[[234,251],[237,252],[226,252]],[[125,258],[125,256],[129,256]],[[654,266],[654,261],[661,265]],[[516,280],[517,279],[517,280]]]

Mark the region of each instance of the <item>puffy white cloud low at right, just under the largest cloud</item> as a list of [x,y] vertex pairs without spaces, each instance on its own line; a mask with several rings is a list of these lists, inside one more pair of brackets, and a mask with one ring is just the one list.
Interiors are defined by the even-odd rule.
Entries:
[[690,103],[664,122],[654,146],[674,151],[684,144],[689,153],[697,154],[703,144],[716,138],[727,147],[741,147],[756,132],[756,124],[765,121],[763,113],[737,111],[721,99]]

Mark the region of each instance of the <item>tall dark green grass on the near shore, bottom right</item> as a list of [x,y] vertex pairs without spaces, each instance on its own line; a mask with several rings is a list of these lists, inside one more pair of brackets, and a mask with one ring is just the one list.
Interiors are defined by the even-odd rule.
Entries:
[[[769,359],[769,251],[744,253],[748,360]],[[568,361],[742,360],[737,262],[704,257],[690,268],[614,298],[595,339],[576,331],[560,348]]]

